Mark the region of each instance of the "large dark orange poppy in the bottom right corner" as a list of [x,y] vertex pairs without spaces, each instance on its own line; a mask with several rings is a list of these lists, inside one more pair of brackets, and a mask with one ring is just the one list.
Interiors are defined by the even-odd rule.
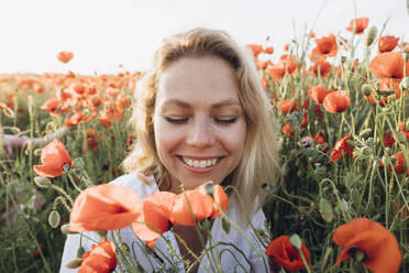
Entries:
[[362,251],[362,263],[374,273],[394,273],[399,270],[402,256],[398,242],[395,236],[378,222],[356,218],[338,227],[332,240],[342,248],[338,264],[356,251]]

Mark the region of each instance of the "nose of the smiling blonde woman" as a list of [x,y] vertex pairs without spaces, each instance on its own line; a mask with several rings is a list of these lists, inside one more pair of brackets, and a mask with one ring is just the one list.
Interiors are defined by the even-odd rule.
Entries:
[[206,148],[215,142],[211,121],[200,118],[194,120],[187,132],[186,143],[191,146]]

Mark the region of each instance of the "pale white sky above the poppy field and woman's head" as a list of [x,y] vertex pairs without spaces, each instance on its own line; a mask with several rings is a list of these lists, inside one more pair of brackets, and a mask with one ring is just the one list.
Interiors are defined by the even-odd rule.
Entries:
[[[357,18],[380,29],[391,17],[384,34],[406,34],[409,42],[407,0],[355,2]],[[354,0],[1,0],[0,74],[142,70],[162,39],[194,26],[273,45],[278,56],[294,30],[300,35],[318,15],[317,37],[332,32],[349,39],[354,14]],[[75,54],[67,65],[56,58],[63,50]]]

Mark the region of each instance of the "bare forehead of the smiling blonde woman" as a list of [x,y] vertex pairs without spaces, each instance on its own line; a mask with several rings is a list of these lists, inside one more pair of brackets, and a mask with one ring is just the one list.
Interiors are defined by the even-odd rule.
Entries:
[[156,101],[181,100],[187,103],[239,102],[237,80],[228,62],[215,56],[181,57],[158,78]]

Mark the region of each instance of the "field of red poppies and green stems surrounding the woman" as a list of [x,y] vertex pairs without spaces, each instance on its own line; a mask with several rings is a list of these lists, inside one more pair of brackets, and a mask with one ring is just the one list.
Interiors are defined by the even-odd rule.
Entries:
[[[345,28],[349,36],[306,31],[281,56],[268,41],[247,45],[281,142],[280,179],[265,187],[269,233],[254,227],[273,272],[409,271],[409,43],[384,35],[367,18]],[[57,55],[67,68],[74,57]],[[190,214],[224,217],[219,186],[146,197],[142,205],[172,199],[184,208],[163,204],[146,220],[126,201],[137,197],[106,185],[123,174],[122,160],[137,141],[128,120],[141,76],[0,75],[0,272],[57,272],[67,229],[145,220],[154,229],[132,228],[151,248],[172,225],[195,225]],[[90,193],[98,198],[79,208]],[[200,206],[185,204],[190,196]],[[92,226],[100,220],[90,218],[92,209],[107,206],[126,208],[126,217],[110,211],[114,222]],[[226,232],[234,228],[223,222]],[[81,253],[75,262],[82,272],[92,272],[95,261],[106,266],[93,270],[110,272],[130,254],[106,239],[96,244],[104,260]]]

